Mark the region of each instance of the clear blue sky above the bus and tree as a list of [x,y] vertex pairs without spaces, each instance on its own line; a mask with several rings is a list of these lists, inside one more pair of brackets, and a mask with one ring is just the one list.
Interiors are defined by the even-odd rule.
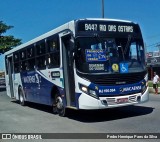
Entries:
[[[14,26],[5,35],[25,43],[74,19],[101,18],[101,5],[102,0],[0,0],[0,21]],[[158,49],[160,0],[104,0],[104,16],[139,23],[147,51]]]

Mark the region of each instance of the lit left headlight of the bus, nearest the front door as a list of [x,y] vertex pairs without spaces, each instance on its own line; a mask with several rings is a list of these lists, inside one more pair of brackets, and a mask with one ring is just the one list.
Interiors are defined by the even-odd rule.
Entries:
[[88,95],[90,95],[90,96],[98,99],[97,93],[96,93],[95,90],[92,90],[92,89],[90,89],[90,88],[88,88],[88,87],[86,87],[86,86],[84,86],[84,85],[82,85],[82,84],[79,84],[79,89],[80,89],[82,92],[84,92],[84,93],[86,93],[86,94],[88,94]]

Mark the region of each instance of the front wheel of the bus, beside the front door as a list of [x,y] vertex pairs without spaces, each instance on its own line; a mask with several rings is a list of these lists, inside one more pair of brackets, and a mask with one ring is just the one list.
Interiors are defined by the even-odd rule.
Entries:
[[60,96],[57,96],[56,98],[57,101],[57,112],[59,114],[59,116],[66,116],[66,108],[64,107],[62,98]]

